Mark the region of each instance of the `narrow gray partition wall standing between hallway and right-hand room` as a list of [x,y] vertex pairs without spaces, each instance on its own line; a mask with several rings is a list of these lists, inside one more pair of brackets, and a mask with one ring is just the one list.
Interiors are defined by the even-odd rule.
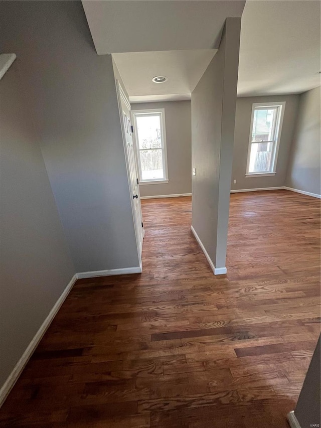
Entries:
[[192,93],[192,225],[216,268],[226,258],[240,25],[240,18],[227,19]]

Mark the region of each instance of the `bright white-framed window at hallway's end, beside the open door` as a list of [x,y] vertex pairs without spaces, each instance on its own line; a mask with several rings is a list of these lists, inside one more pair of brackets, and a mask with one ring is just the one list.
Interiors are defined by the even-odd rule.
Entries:
[[165,110],[135,110],[132,114],[139,183],[168,183]]

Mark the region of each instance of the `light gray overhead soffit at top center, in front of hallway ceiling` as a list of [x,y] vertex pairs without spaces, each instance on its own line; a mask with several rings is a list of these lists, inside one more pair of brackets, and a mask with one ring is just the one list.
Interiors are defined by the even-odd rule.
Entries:
[[82,1],[98,55],[217,49],[227,17],[245,0]]

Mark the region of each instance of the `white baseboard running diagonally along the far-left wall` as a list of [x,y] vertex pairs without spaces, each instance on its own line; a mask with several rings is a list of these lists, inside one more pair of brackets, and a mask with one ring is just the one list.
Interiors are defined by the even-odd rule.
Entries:
[[61,305],[64,303],[66,297],[70,293],[70,291],[71,291],[71,289],[72,289],[72,287],[73,287],[73,285],[77,279],[78,278],[77,278],[76,274],[71,278],[67,287],[63,291],[62,295],[60,296],[60,298],[57,300],[54,307],[50,311],[48,317],[42,323],[40,329],[37,331],[36,335],[34,336],[32,341],[28,345],[27,349],[25,350],[22,357],[20,358],[20,360],[16,364],[15,368],[10,373],[8,379],[6,380],[6,382],[4,383],[2,388],[0,389],[0,407],[5,402],[7,396],[9,395],[10,391],[12,390],[15,383],[17,382],[19,376],[21,375],[23,369],[25,368],[26,364],[28,363],[28,361],[29,361],[30,357],[32,356],[34,350],[38,346],[43,335],[46,333],[46,331],[47,331],[48,327],[50,326],[52,320],[55,318],[57,312],[59,311]]

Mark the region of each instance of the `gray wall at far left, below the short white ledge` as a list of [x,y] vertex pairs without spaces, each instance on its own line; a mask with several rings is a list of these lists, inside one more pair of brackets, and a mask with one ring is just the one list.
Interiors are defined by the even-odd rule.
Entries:
[[23,74],[0,81],[0,388],[75,273]]

